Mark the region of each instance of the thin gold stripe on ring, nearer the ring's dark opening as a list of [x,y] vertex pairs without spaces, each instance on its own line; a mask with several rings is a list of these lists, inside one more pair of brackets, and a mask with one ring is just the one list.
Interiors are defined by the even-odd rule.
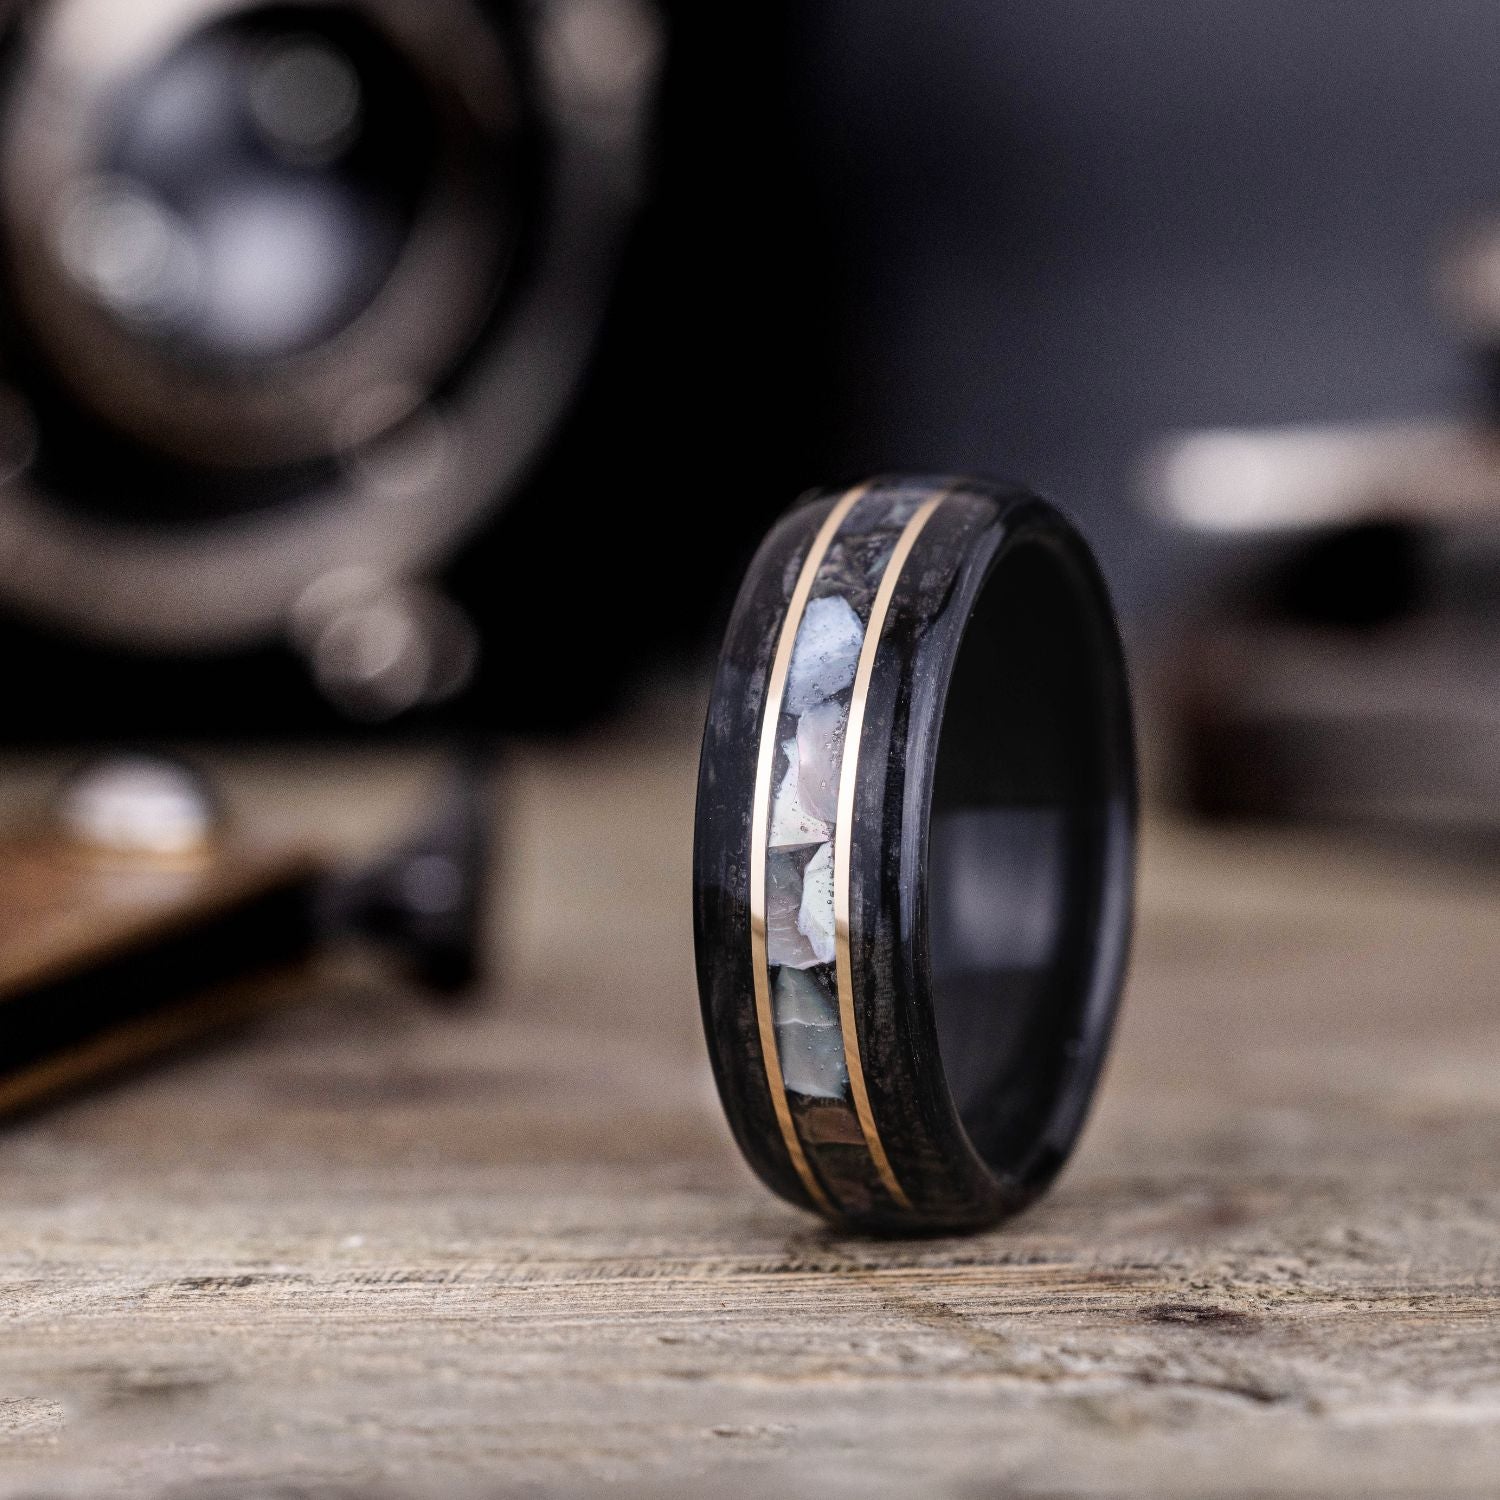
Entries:
[[849,704],[849,729],[844,734],[843,765],[838,771],[838,822],[834,825],[834,962],[838,974],[838,1026],[844,1040],[844,1065],[849,1070],[849,1092],[854,1095],[854,1108],[860,1116],[860,1130],[864,1131],[864,1143],[874,1160],[874,1170],[885,1184],[885,1191],[903,1208],[909,1209],[912,1200],[906,1196],[896,1173],[891,1168],[891,1158],[885,1154],[885,1143],[874,1124],[874,1112],[870,1108],[870,1094],[864,1086],[864,1064],[860,1059],[860,1029],[854,1012],[854,970],[849,956],[849,861],[854,849],[854,795],[860,782],[860,740],[864,735],[866,706],[870,699],[870,680],[874,675],[874,658],[880,651],[880,636],[885,633],[885,621],[891,612],[891,600],[896,597],[896,586],[902,580],[902,568],[916,546],[916,538],[922,528],[933,518],[933,512],[948,498],[948,490],[933,495],[921,510],[906,524],[891,561],[880,576],[880,588],[874,596],[874,608],[870,610],[870,624],[866,626],[864,645],[860,648],[860,668],[854,680],[854,698]]

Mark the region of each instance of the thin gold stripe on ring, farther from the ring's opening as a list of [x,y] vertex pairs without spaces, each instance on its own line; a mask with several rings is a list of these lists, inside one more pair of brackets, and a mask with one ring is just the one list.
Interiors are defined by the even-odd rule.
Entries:
[[813,1168],[802,1150],[802,1140],[796,1134],[792,1122],[792,1107],[786,1102],[786,1083],[782,1077],[782,1053],[776,1044],[776,1016],[771,1010],[771,963],[766,951],[765,933],[765,867],[771,842],[771,778],[776,772],[777,729],[782,718],[782,702],[786,698],[786,680],[792,670],[792,648],[796,645],[796,632],[807,610],[807,600],[818,580],[818,570],[822,567],[828,549],[832,546],[838,528],[850,510],[864,498],[868,484],[849,490],[843,500],[828,513],[812,549],[802,562],[802,572],[796,576],[796,586],[786,606],[786,620],[782,621],[782,634],[776,644],[776,656],[771,660],[771,678],[765,690],[765,717],[760,720],[760,753],[756,759],[754,772],[754,804],[750,810],[750,969],[754,975],[754,1012],[760,1029],[760,1056],[765,1060],[765,1082],[771,1089],[771,1104],[776,1108],[776,1122],[782,1126],[782,1140],[786,1142],[786,1154],[792,1158],[796,1174],[802,1179],[808,1197],[825,1212],[836,1214],[837,1209],[830,1202],[824,1185],[813,1176]]

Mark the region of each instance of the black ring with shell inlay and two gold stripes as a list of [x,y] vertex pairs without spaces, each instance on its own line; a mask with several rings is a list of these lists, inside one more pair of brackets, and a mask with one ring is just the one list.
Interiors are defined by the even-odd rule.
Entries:
[[1136,752],[1078,532],[1026,490],[814,494],[750,566],[699,770],[698,978],[741,1150],[852,1228],[978,1228],[1083,1126]]

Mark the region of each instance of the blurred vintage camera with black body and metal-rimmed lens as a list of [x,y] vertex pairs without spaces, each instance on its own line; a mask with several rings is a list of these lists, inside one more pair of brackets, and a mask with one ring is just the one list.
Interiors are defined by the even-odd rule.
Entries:
[[700,12],[3,6],[8,735],[566,723],[700,624],[818,380],[776,12]]

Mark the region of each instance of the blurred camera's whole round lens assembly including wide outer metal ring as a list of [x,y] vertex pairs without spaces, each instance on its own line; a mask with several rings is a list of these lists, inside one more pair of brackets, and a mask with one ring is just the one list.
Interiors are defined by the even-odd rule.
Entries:
[[[441,566],[579,382],[639,201],[656,12],[0,16],[0,598],[206,652],[300,628],[330,578],[399,592]],[[465,628],[406,614],[442,658],[417,687],[345,693],[336,663],[369,648],[332,639],[320,680],[375,717],[441,698]]]

